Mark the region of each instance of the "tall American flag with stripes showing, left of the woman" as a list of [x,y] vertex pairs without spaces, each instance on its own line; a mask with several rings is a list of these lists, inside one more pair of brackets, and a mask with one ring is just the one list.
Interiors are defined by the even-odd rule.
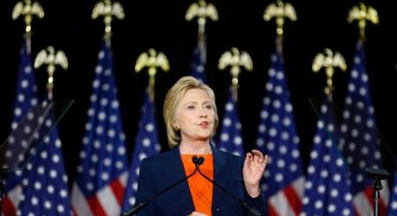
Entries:
[[128,178],[125,134],[109,43],[103,42],[92,82],[72,205],[77,215],[119,215]]

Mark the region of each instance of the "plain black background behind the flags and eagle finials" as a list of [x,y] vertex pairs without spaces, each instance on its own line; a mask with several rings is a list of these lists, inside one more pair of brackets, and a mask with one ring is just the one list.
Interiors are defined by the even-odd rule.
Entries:
[[[147,85],[146,72],[135,73],[138,55],[148,48],[164,52],[170,62],[170,72],[160,72],[156,78],[156,109],[159,139],[166,150],[166,133],[162,118],[162,103],[167,89],[181,76],[190,74],[192,50],[196,45],[196,22],[184,20],[185,11],[192,1],[122,1],[126,17],[113,22],[112,47],[114,71],[119,89],[127,146],[132,151],[140,118],[140,107]],[[67,71],[55,73],[54,100],[73,99],[70,111],[59,123],[65,166],[69,183],[73,182],[78,152],[87,121],[86,111],[92,92],[92,79],[101,47],[104,25],[91,20],[96,1],[40,1],[45,17],[33,21],[32,58],[48,45],[63,50],[69,61]],[[240,76],[239,109],[246,150],[252,149],[257,135],[259,112],[267,80],[269,57],[274,49],[274,21],[263,21],[264,9],[270,1],[213,1],[219,21],[209,21],[207,32],[207,77],[217,95],[220,119],[223,117],[229,74],[219,71],[218,59],[232,46],[247,51],[254,63],[252,73]],[[301,150],[306,167],[316,131],[317,117],[308,98],[324,98],[325,74],[314,74],[311,65],[315,55],[325,47],[339,51],[345,57],[347,73],[337,71],[334,77],[336,101],[343,101],[358,38],[356,23],[346,22],[349,9],[356,1],[290,1],[297,13],[297,22],[286,21],[284,28],[284,57],[286,78],[294,107]],[[22,45],[24,23],[12,21],[16,1],[2,2],[0,25],[2,38],[0,57],[0,140],[11,132],[10,124],[18,76],[19,50]],[[377,9],[379,25],[368,24],[366,29],[367,73],[370,93],[375,108],[377,126],[392,152],[395,145],[395,82],[397,62],[396,13],[393,1],[367,1]],[[44,97],[46,73],[36,70],[41,98]],[[129,154],[131,155],[131,153]],[[392,170],[394,162],[388,161]]]

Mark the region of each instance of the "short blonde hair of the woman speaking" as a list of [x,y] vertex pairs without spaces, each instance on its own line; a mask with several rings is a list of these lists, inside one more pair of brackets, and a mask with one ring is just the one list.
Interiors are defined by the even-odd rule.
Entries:
[[165,121],[165,127],[167,129],[167,138],[168,138],[168,145],[170,148],[178,145],[180,143],[180,131],[175,129],[173,124],[176,120],[176,111],[179,105],[180,100],[182,99],[183,95],[186,93],[187,90],[198,88],[205,90],[211,97],[214,105],[214,132],[212,135],[215,134],[219,118],[218,118],[218,111],[217,106],[215,104],[215,93],[214,91],[208,86],[204,84],[202,81],[192,77],[192,76],[184,76],[180,78],[167,92],[165,95],[164,106],[163,106],[163,116]]

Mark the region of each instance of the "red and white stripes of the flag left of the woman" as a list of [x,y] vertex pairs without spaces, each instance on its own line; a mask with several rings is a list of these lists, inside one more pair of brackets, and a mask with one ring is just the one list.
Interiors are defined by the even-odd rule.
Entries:
[[120,215],[128,172],[98,190],[92,197],[85,198],[77,183],[73,184],[72,206],[77,216]]

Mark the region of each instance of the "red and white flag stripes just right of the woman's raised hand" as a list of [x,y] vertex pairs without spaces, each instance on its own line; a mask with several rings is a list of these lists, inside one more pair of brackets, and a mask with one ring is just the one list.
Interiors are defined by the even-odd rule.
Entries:
[[301,176],[282,190],[272,195],[267,201],[269,215],[299,215],[302,208],[302,197],[305,177]]

